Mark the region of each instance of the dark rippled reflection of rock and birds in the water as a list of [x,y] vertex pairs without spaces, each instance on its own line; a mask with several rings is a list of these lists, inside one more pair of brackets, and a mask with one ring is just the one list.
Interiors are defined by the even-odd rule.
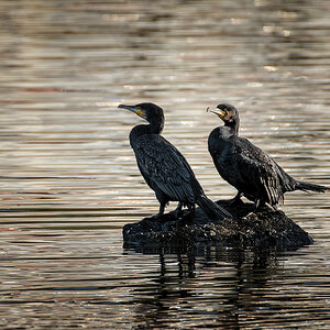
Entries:
[[136,328],[239,329],[266,308],[268,282],[282,271],[278,252],[271,249],[188,249],[176,255],[163,250],[158,255],[158,275],[132,292]]

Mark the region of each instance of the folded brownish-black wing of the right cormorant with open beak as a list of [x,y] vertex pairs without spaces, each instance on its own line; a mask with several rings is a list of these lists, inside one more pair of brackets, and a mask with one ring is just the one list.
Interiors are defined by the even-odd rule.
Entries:
[[237,143],[238,163],[242,180],[250,183],[272,205],[283,199],[278,165],[261,148],[246,139]]

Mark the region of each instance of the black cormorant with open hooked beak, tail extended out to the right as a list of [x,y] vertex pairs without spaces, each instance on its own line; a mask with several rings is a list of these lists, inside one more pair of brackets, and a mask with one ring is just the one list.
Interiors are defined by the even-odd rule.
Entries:
[[239,138],[240,117],[233,106],[223,103],[216,109],[208,108],[208,111],[224,122],[210,133],[208,146],[221,177],[239,190],[233,202],[240,201],[244,195],[255,201],[255,209],[265,204],[276,209],[287,191],[324,193],[329,189],[294,179],[265,152]]

